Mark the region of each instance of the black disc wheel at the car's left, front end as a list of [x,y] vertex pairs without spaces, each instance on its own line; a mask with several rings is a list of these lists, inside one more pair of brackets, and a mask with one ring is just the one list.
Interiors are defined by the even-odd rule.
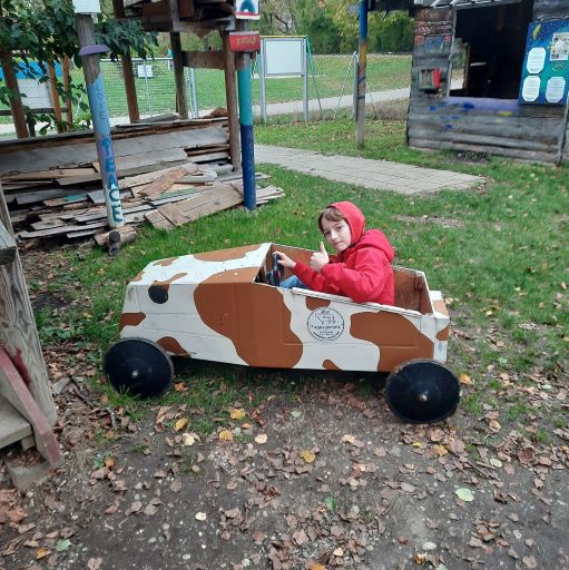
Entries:
[[104,371],[117,392],[141,397],[164,394],[174,380],[174,366],[166,351],[146,338],[115,343],[105,355]]

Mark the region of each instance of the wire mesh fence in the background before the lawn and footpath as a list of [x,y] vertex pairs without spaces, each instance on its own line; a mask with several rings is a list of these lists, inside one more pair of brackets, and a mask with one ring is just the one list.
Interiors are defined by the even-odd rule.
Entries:
[[[253,105],[258,119],[261,90],[256,60],[253,72]],[[140,116],[176,112],[176,88],[171,59],[134,60]],[[128,108],[118,62],[101,60],[107,105],[111,124],[127,124]],[[308,60],[308,109],[311,119],[353,114],[357,53],[313,56]],[[411,83],[410,53],[367,56],[367,109],[375,117],[404,118]],[[219,69],[185,69],[185,87],[192,117],[226,107],[225,78]],[[265,79],[268,121],[296,121],[303,118],[303,78]]]

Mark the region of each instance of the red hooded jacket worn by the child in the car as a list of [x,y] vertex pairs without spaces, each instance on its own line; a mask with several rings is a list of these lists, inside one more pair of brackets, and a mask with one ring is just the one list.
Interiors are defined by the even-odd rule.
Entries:
[[345,216],[352,233],[352,245],[330,256],[330,263],[320,273],[301,262],[296,263],[293,273],[313,291],[343,295],[356,303],[393,305],[393,247],[383,232],[365,230],[365,217],[357,206],[351,202],[336,202],[332,206]]

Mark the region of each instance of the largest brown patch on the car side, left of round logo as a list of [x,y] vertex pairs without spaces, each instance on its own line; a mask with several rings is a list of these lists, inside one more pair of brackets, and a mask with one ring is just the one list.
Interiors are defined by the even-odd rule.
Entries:
[[301,340],[290,331],[291,311],[276,287],[216,274],[197,285],[194,302],[203,322],[229,338],[249,366],[291,368],[301,360]]

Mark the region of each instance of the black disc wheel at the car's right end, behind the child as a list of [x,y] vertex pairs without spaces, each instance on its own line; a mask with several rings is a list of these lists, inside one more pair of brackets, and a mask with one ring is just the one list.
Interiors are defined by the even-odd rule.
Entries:
[[411,361],[389,375],[385,400],[391,411],[405,422],[440,422],[457,411],[460,383],[438,362]]

